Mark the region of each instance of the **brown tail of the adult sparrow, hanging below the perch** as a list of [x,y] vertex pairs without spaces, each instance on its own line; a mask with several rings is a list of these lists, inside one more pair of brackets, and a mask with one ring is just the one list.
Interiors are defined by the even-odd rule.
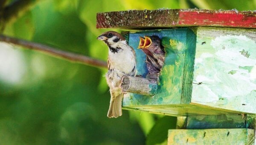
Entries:
[[117,118],[122,116],[122,93],[115,94],[112,91],[110,105],[108,109],[108,118]]

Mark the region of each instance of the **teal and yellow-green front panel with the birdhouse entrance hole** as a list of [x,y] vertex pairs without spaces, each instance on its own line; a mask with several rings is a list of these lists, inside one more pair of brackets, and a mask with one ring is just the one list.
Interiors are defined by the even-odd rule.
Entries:
[[[130,32],[128,43],[134,48],[137,55],[137,75],[143,75],[143,77],[145,77],[148,73],[145,64],[145,54],[141,49],[137,49],[140,36],[158,35],[162,39],[163,46],[165,46],[166,59],[160,72],[161,75],[159,77],[157,93],[153,97],[127,93],[123,100],[124,107],[156,104],[181,104],[186,53],[189,53],[188,48],[195,49],[189,46],[190,44],[186,44],[188,32],[193,33],[188,28]],[[189,102],[186,101],[186,103]]]

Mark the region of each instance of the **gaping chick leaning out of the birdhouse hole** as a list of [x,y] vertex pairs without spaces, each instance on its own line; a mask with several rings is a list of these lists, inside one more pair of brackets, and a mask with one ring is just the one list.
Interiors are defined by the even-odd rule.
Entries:
[[165,59],[164,47],[157,35],[140,37],[138,48],[146,55],[148,74],[146,78],[158,78]]

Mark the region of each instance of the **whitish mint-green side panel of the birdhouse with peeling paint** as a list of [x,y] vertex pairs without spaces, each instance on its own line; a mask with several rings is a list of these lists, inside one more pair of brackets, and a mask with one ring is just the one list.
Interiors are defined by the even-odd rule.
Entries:
[[256,29],[196,32],[191,104],[256,113]]

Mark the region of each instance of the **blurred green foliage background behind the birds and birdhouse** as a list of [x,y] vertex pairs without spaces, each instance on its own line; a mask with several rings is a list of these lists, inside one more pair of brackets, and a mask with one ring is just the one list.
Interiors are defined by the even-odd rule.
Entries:
[[[22,0],[0,0],[0,10]],[[25,0],[23,0],[25,1]],[[96,13],[129,9],[255,10],[256,0],[26,0],[1,34],[103,61],[108,49],[96,37]],[[71,63],[0,42],[0,144],[166,144],[176,118],[123,110],[108,119],[104,68]]]

